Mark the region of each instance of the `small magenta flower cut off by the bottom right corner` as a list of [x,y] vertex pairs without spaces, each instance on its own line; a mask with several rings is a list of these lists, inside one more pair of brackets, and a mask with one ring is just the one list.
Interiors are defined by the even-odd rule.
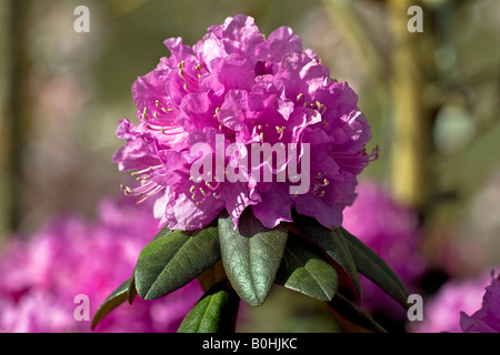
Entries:
[[482,306],[471,316],[460,312],[463,333],[500,333],[500,276],[491,280],[482,296]]

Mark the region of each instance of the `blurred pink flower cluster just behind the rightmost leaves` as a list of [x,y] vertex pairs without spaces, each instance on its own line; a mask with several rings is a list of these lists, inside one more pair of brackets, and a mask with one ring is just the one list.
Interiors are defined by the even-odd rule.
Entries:
[[[418,281],[426,270],[419,253],[417,213],[397,203],[382,186],[361,181],[358,197],[344,210],[343,227],[372,248],[406,284],[410,293],[418,291]],[[377,285],[361,276],[363,307],[401,313],[402,308]],[[406,312],[403,312],[406,317]],[[396,314],[394,314],[396,315]]]

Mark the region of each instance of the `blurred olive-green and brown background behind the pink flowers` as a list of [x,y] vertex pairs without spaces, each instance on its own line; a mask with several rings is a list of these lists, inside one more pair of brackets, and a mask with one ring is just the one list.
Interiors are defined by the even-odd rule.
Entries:
[[[73,10],[90,10],[77,33]],[[410,6],[423,32],[409,32]],[[131,84],[246,13],[291,27],[359,94],[380,159],[363,179],[421,216],[422,252],[453,276],[500,262],[500,1],[0,0],[0,235],[29,235],[60,211],[92,216],[126,179],[111,162]],[[276,290],[240,331],[331,332],[321,303]]]

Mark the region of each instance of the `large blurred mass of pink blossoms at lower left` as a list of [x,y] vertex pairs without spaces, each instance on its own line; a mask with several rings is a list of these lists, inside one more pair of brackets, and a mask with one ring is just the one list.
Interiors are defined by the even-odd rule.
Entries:
[[[89,321],[74,317],[76,296],[89,297],[92,317],[131,276],[141,248],[158,232],[143,207],[107,200],[93,223],[60,216],[29,240],[9,242],[0,256],[0,332],[90,332]],[[201,294],[194,281],[161,300],[136,297],[96,332],[176,332]]]

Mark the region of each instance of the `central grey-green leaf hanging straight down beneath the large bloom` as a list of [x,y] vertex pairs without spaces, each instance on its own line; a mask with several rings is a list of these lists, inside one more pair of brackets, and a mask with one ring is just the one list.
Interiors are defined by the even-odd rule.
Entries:
[[238,295],[252,306],[261,305],[271,290],[288,239],[288,225],[264,227],[247,209],[234,231],[224,211],[219,216],[222,263]]

